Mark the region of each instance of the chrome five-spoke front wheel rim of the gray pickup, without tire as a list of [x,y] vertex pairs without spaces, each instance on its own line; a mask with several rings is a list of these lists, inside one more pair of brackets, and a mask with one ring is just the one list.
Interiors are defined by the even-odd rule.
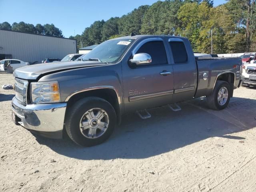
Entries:
[[80,131],[86,138],[96,139],[106,132],[108,125],[108,114],[103,109],[92,108],[82,116]]

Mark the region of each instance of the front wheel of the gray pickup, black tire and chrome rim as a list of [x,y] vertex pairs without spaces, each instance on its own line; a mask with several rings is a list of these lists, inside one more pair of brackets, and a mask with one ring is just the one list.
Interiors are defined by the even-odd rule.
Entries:
[[114,131],[116,112],[102,98],[83,98],[68,110],[65,125],[68,136],[76,144],[98,145],[107,140]]

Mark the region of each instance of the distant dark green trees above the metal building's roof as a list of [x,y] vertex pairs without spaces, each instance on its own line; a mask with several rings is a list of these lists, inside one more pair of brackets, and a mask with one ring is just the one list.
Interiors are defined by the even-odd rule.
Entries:
[[25,22],[14,22],[12,25],[8,22],[0,23],[0,29],[2,30],[12,30],[18,32],[26,32],[33,34],[41,34],[41,35],[49,35],[54,37],[63,37],[62,30],[55,27],[54,24],[33,24],[25,23]]

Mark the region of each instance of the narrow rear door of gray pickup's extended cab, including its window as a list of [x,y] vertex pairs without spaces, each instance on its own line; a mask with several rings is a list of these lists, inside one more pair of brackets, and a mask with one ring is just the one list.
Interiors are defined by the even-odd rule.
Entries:
[[174,72],[173,102],[189,100],[196,92],[197,68],[194,53],[189,52],[188,41],[181,38],[169,38],[170,55]]

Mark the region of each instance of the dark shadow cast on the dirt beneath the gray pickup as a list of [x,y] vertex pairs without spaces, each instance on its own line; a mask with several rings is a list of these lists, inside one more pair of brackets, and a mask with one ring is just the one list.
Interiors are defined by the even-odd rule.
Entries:
[[90,148],[82,148],[70,140],[50,140],[40,136],[36,139],[58,154],[71,158],[140,159],[212,137],[245,140],[230,134],[256,127],[256,100],[232,98],[228,108],[222,111],[208,109],[204,98],[179,105],[182,110],[178,112],[171,111],[167,106],[150,109],[152,118],[146,120],[136,114],[128,114],[110,139]]

